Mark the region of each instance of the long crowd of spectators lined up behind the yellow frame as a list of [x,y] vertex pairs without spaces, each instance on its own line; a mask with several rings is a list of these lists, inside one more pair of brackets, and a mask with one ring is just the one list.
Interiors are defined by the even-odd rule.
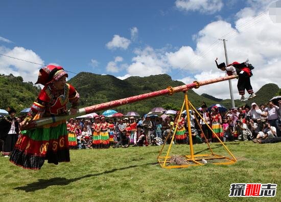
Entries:
[[[278,105],[281,106],[281,101]],[[279,106],[272,102],[260,106],[251,103],[251,106],[220,112],[216,107],[208,110],[203,105],[199,110],[200,116],[190,112],[193,143],[217,142],[219,139],[260,142],[261,139],[281,136]],[[165,141],[172,141],[176,125],[178,127],[172,143],[190,143],[188,122],[184,113],[175,117],[167,116],[165,120],[157,116],[122,119],[97,116],[95,119],[76,119],[73,124],[76,126],[78,149],[159,146]],[[170,136],[167,139],[168,134]]]

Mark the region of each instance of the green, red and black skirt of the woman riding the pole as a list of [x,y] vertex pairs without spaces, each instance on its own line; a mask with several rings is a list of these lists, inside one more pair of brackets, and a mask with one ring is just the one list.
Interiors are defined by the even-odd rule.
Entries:
[[26,169],[40,169],[44,161],[69,162],[66,121],[21,131],[10,161]]

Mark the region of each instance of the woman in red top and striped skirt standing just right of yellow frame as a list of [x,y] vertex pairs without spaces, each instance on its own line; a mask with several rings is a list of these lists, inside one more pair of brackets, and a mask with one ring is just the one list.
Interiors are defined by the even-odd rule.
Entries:
[[[219,113],[219,109],[217,106],[214,106],[214,107],[212,107],[211,111],[212,112],[210,114],[210,118],[212,120],[212,129],[220,139],[223,139],[223,128],[221,125],[222,118],[221,118],[221,114]],[[213,137],[213,142],[216,142],[217,137],[215,136],[214,133],[213,133],[212,137]]]

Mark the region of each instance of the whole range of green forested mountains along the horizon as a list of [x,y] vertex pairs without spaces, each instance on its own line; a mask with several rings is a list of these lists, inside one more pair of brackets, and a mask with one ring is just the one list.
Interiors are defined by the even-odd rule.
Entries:
[[[174,81],[167,74],[152,75],[147,77],[132,76],[124,80],[120,80],[112,75],[99,75],[87,72],[81,72],[68,81],[75,86],[80,94],[80,107],[91,106],[135,95],[154,92],[166,89],[167,86],[179,86],[184,83]],[[201,87],[204,88],[204,87]],[[30,107],[36,99],[40,89],[33,85],[32,82],[24,82],[20,76],[0,75],[0,108],[6,109],[13,106],[19,112],[20,110]],[[276,84],[266,84],[256,92],[256,97],[247,102],[235,100],[236,106],[257,104],[268,102],[273,96],[280,93],[280,89]],[[193,90],[188,91],[189,100],[195,107],[200,107],[202,101],[207,105],[222,104],[227,108],[231,108],[230,99],[218,102],[218,98],[203,94],[198,95]],[[153,107],[163,107],[166,109],[179,110],[184,99],[183,93],[175,93],[172,96],[160,96],[149,100],[139,101],[114,108],[115,110],[126,113],[128,111],[136,111],[145,114]]]

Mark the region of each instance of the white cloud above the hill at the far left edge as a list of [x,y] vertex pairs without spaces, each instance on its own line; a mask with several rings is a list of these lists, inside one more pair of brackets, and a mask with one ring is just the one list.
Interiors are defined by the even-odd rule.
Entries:
[[[38,64],[44,64],[44,61],[35,52],[24,47],[14,47],[13,49],[0,47],[0,52],[5,55],[16,57],[21,60],[31,61]],[[11,59],[9,57],[0,55],[0,73],[13,74],[14,76],[21,76],[24,81],[37,81],[40,65],[27,63]]]

